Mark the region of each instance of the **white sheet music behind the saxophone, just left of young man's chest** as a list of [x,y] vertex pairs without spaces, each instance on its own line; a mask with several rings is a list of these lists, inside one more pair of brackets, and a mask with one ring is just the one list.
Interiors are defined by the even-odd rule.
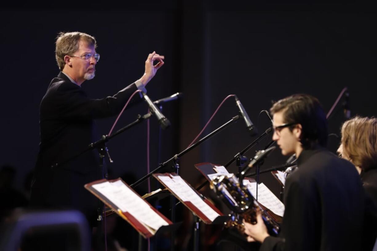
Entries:
[[[250,191],[250,193],[256,197],[256,182],[250,182],[244,179],[244,185]],[[258,185],[258,202],[270,209],[274,214],[281,217],[284,215],[284,204],[271,192],[265,184]]]

